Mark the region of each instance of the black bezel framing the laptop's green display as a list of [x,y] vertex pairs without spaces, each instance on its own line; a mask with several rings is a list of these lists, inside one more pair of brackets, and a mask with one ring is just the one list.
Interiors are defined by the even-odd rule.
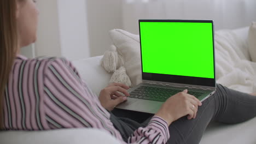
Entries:
[[[142,80],[149,81],[161,81],[171,83],[182,83],[187,85],[199,85],[216,87],[216,75],[215,75],[215,53],[214,53],[214,26],[212,20],[139,20],[139,41],[141,48],[141,70]],[[180,76],[180,75],[167,75],[167,74],[155,74],[155,73],[144,73],[143,72],[143,59],[142,59],[142,45],[141,45],[141,22],[198,22],[198,23],[212,23],[212,41],[213,41],[213,70],[214,79],[193,77],[193,76]]]

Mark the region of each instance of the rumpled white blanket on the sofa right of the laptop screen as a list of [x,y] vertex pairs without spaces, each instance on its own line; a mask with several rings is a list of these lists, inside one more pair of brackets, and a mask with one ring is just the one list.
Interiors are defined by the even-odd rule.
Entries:
[[[243,46],[243,47],[241,47]],[[256,63],[248,56],[248,44],[233,31],[215,34],[216,79],[237,91],[256,92]]]

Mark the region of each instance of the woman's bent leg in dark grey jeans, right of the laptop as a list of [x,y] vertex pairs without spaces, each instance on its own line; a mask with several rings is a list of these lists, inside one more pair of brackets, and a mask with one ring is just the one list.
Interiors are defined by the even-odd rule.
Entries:
[[256,97],[217,84],[217,91],[203,101],[195,119],[179,118],[170,127],[167,143],[199,143],[211,121],[235,124],[256,116]]

